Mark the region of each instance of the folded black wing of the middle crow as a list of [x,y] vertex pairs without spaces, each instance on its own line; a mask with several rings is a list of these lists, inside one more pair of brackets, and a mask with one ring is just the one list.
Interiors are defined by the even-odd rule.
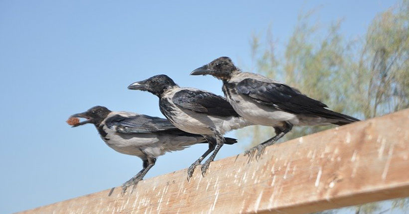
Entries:
[[217,116],[239,116],[223,97],[209,92],[181,90],[175,93],[172,101],[179,107],[199,113]]

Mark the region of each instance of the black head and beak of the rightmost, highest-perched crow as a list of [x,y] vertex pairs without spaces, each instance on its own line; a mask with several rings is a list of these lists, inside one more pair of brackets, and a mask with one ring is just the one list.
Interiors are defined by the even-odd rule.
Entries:
[[233,72],[237,71],[231,59],[222,56],[209,64],[192,71],[191,75],[211,75],[219,80],[229,80]]

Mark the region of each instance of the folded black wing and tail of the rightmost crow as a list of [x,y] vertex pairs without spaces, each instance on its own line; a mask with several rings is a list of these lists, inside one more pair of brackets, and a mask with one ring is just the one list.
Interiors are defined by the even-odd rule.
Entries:
[[235,89],[238,94],[248,96],[262,105],[290,113],[358,121],[357,118],[325,108],[327,105],[311,99],[285,84],[266,83],[248,78],[239,82]]

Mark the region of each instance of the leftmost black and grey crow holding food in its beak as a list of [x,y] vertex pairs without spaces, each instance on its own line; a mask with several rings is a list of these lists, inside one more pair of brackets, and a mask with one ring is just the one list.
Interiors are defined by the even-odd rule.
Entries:
[[[155,165],[158,156],[165,152],[182,150],[196,143],[207,143],[202,135],[182,131],[167,119],[144,114],[111,111],[106,107],[96,106],[71,117],[87,119],[72,127],[92,123],[109,147],[142,159],[143,169],[122,185],[123,193],[131,185],[135,188]],[[229,139],[229,143],[235,142],[235,139]]]

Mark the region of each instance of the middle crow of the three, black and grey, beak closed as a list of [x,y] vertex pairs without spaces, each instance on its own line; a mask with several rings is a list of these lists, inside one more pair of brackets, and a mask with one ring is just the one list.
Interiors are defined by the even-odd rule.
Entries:
[[223,143],[228,142],[223,137],[225,132],[251,125],[223,97],[199,89],[181,88],[166,75],[135,82],[128,89],[148,91],[158,96],[159,108],[169,121],[181,130],[201,134],[207,139],[209,148],[189,167],[188,180],[195,167],[214,150],[202,165],[202,175],[205,175]]

